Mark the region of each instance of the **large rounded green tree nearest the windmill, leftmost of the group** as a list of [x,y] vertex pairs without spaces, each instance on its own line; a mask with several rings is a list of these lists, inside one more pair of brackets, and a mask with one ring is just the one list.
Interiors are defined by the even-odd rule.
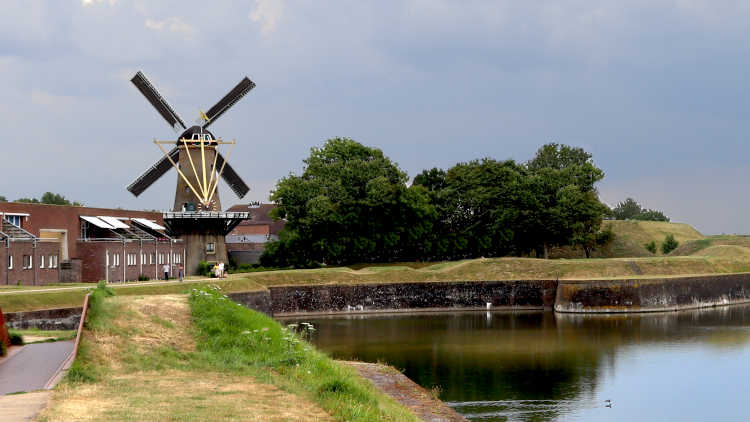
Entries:
[[329,139],[312,148],[302,175],[271,193],[274,216],[286,219],[264,266],[309,267],[415,259],[435,217],[426,190],[406,186],[406,173],[376,148]]

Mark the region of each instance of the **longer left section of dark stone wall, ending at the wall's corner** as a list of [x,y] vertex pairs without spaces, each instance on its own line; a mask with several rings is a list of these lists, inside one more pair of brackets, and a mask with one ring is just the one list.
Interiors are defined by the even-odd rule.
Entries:
[[551,308],[557,282],[476,281],[271,287],[274,315],[439,308]]

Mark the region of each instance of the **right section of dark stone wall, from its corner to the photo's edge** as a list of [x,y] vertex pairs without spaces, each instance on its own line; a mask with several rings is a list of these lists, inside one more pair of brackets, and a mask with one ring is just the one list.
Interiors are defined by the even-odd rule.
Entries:
[[750,274],[561,281],[557,312],[651,312],[750,301]]

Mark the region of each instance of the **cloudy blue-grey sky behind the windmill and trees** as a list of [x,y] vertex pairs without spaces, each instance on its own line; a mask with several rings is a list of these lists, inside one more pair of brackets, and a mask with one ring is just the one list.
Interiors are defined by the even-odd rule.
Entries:
[[543,144],[583,147],[601,199],[633,197],[705,234],[750,234],[750,2],[723,0],[3,1],[0,195],[168,209],[171,171],[125,187],[244,76],[211,126],[268,201],[311,147],[349,137],[410,177]]

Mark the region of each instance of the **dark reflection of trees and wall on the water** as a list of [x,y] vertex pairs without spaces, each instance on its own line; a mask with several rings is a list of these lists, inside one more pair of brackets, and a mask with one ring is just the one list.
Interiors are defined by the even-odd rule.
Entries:
[[514,419],[525,421],[558,417],[555,403],[591,399],[623,346],[733,348],[750,342],[750,330],[739,329],[750,326],[750,305],[654,314],[441,313],[311,322],[318,327],[315,343],[334,357],[387,362],[422,386],[439,385],[446,401],[503,401],[479,403],[471,411],[550,401]]

